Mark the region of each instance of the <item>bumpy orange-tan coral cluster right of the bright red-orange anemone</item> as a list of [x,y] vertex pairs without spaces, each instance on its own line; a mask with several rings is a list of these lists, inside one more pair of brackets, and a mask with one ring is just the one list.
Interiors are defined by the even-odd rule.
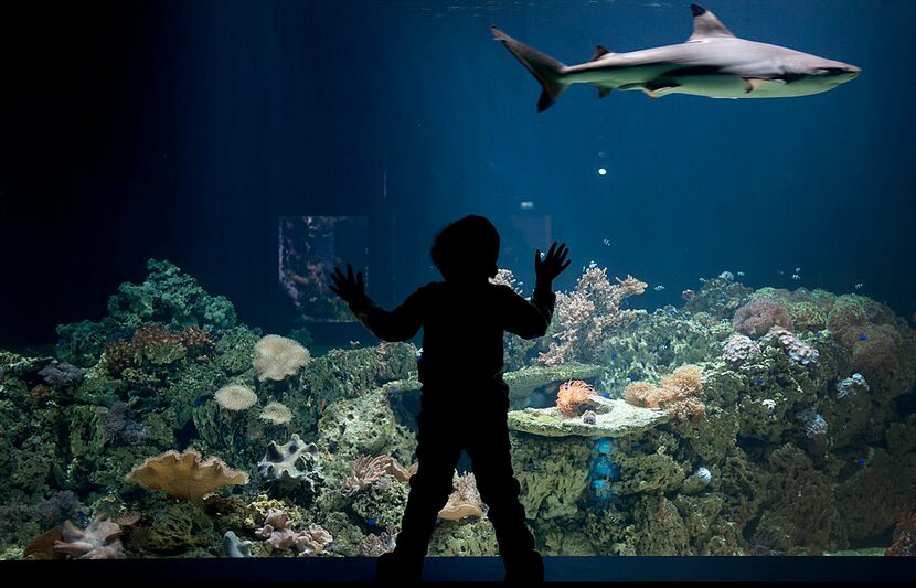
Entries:
[[624,399],[633,406],[662,408],[675,420],[696,420],[705,414],[700,399],[702,372],[696,365],[682,365],[661,381],[659,387],[633,382],[624,391]]

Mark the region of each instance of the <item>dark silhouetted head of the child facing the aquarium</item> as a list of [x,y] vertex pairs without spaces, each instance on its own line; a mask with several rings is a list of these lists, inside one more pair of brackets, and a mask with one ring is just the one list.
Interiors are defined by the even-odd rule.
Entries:
[[482,216],[465,216],[439,231],[429,257],[446,281],[492,278],[497,275],[499,233]]

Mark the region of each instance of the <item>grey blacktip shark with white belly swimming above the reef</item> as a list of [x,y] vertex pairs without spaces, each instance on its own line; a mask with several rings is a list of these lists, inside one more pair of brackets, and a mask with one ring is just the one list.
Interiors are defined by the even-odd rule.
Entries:
[[550,108],[573,84],[592,84],[604,98],[615,89],[650,98],[693,94],[710,98],[782,98],[835,88],[859,75],[848,63],[738,39],[715,14],[691,4],[693,34],[686,43],[614,53],[598,45],[592,61],[564,65],[498,26],[490,26],[543,87],[537,111]]

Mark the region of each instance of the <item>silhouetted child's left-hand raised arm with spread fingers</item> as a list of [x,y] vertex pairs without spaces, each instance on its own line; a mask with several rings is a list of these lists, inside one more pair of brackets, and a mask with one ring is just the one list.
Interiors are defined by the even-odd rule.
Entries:
[[403,304],[388,312],[379,307],[365,293],[363,272],[353,276],[353,268],[347,264],[347,275],[340,268],[331,272],[332,292],[341,297],[363,327],[382,341],[407,341],[419,331],[423,324],[420,312],[420,291],[411,295]]

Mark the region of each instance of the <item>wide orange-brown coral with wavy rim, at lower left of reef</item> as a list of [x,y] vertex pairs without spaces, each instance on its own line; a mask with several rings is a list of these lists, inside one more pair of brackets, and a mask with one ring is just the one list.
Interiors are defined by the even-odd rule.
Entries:
[[203,502],[203,498],[224,485],[244,485],[248,474],[230,468],[219,458],[201,461],[194,450],[171,450],[148,458],[130,470],[125,481],[150,490],[164,490],[173,499]]

